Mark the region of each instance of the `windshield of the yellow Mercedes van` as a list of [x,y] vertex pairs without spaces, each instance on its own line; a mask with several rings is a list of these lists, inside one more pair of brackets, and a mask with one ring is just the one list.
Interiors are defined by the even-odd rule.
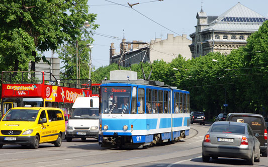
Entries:
[[35,121],[39,110],[11,109],[3,121]]

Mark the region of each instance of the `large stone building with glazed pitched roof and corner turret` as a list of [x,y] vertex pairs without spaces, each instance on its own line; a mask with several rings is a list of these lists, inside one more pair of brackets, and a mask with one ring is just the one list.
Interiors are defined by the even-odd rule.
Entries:
[[192,58],[210,52],[229,54],[245,46],[246,39],[268,20],[240,3],[220,16],[207,16],[201,9],[196,18],[196,32],[190,34]]

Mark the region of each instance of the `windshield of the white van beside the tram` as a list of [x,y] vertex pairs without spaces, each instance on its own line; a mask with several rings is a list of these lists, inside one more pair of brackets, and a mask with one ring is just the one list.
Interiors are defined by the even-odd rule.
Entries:
[[69,119],[99,118],[99,108],[72,108]]

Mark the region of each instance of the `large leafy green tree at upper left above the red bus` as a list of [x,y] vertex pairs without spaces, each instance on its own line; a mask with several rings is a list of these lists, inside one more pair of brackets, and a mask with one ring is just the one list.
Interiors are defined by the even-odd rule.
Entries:
[[[10,1],[0,4],[0,56],[5,69],[21,70],[19,64],[41,60],[38,51],[55,51],[64,41],[75,41],[81,35],[84,21],[91,24],[92,30],[96,15],[87,14],[86,0],[73,1]],[[87,33],[87,35],[90,33]]]

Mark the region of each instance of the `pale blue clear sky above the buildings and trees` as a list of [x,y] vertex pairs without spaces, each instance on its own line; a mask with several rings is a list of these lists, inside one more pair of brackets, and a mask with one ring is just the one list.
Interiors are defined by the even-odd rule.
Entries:
[[[203,11],[208,16],[220,16],[238,2],[267,18],[267,0],[203,0]],[[128,3],[140,4],[131,9]],[[189,35],[195,32],[196,15],[202,6],[201,0],[88,0],[87,4],[100,25],[93,36],[92,63],[96,69],[109,65],[111,43],[120,52],[123,36],[127,41],[150,42],[166,39],[167,34],[186,34],[192,40]]]

